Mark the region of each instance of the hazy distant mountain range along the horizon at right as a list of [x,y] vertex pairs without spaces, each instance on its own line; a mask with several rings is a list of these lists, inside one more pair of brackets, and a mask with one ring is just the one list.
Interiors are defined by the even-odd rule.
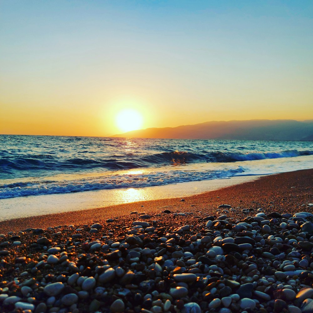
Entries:
[[147,128],[112,137],[313,141],[313,120],[210,121],[177,127]]

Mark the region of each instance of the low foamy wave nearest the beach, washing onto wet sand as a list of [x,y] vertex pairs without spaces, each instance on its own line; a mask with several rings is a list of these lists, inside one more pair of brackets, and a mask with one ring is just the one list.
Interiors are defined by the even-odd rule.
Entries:
[[16,182],[0,186],[0,199],[48,195],[54,193],[83,192],[99,189],[152,187],[179,182],[194,182],[240,175],[244,168],[235,167],[218,171],[169,171],[149,174],[128,174],[73,181]]

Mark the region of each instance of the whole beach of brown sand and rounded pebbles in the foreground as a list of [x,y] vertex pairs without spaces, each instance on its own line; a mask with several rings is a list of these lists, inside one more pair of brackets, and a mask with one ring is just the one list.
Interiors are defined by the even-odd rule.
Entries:
[[313,312],[312,182],[0,222],[1,312]]

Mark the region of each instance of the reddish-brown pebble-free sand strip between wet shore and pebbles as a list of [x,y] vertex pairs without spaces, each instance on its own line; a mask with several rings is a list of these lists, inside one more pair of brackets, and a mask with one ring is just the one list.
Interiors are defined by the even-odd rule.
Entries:
[[[184,197],[184,202],[180,201],[181,198],[166,198],[124,203],[102,208],[92,208],[79,211],[5,220],[0,222],[0,233],[18,231],[31,227],[46,228],[65,224],[69,225],[92,223],[94,221],[103,220],[105,218],[125,216],[132,211],[157,213],[161,211],[162,208],[164,209],[167,207],[171,208],[172,210],[175,209],[186,212],[196,212],[197,210],[199,211],[203,209],[206,209],[208,212],[213,212],[214,209],[221,203],[229,203],[234,207],[253,205],[251,199],[257,197],[263,198],[265,196],[264,193],[269,194],[265,196],[265,200],[261,200],[260,203],[264,206],[264,208],[267,208],[269,201],[266,199],[275,196],[275,192],[279,197],[289,197],[290,195],[290,199],[285,199],[280,202],[273,198],[273,207],[275,208],[275,206],[278,207],[278,205],[289,204],[291,205],[290,212],[295,212],[296,209],[299,208],[301,204],[303,204],[297,200],[297,197],[302,195],[302,193],[305,195],[305,198],[308,201],[313,201],[307,192],[307,188],[310,188],[312,182],[313,169],[284,172],[280,174],[262,176],[252,182],[244,182],[213,191]],[[254,189],[254,191],[252,191],[252,189]],[[310,198],[311,200],[309,200]]]

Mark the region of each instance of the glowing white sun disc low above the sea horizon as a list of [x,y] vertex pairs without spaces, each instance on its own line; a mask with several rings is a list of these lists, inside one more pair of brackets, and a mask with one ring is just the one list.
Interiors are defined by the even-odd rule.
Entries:
[[125,109],[116,115],[116,125],[121,131],[134,131],[142,125],[142,115],[132,109]]

